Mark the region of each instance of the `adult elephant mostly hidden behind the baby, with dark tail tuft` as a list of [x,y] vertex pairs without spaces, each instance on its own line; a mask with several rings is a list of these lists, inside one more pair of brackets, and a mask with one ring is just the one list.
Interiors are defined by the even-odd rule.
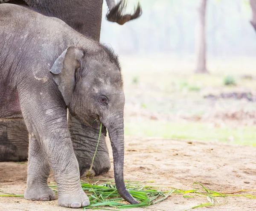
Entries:
[[[133,14],[124,14],[125,1],[118,4],[115,0],[106,0],[108,4],[107,20],[124,24],[141,15],[140,4]],[[103,0],[0,0],[0,3],[14,3],[29,7],[47,16],[58,17],[81,34],[99,41],[102,21]],[[99,131],[81,123],[70,114],[68,126],[79,162],[80,176],[83,177],[90,167],[96,149]],[[104,133],[104,132],[103,132]],[[28,132],[23,120],[0,122],[0,162],[24,161],[28,157]],[[108,148],[105,136],[101,136],[93,171],[95,175],[110,169]]]

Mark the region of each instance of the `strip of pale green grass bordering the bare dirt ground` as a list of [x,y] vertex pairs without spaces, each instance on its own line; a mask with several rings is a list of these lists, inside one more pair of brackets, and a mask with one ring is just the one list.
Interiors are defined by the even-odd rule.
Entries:
[[167,122],[148,120],[146,124],[125,122],[125,135],[169,139],[195,139],[256,146],[256,126],[214,127],[204,122]]

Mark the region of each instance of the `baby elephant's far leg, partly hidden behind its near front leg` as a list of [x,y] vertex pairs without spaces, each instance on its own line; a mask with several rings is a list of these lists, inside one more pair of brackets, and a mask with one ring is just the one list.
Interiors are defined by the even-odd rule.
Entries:
[[29,165],[25,199],[49,201],[55,194],[47,185],[50,166],[35,137],[29,138]]

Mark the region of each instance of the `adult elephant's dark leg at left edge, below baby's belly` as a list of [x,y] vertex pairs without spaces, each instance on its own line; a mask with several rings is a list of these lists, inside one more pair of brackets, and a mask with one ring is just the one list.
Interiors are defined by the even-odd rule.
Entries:
[[28,137],[23,119],[0,121],[0,162],[25,161],[28,157]]

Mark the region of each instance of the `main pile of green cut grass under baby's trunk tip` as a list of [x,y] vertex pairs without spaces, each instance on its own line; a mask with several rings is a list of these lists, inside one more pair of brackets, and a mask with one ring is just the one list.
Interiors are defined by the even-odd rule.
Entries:
[[[91,180],[95,181],[95,180]],[[107,207],[115,207],[119,209],[125,208],[137,208],[145,207],[157,202],[163,201],[170,194],[178,193],[179,191],[172,188],[170,191],[157,191],[155,186],[143,185],[143,183],[149,183],[154,181],[145,181],[145,182],[136,182],[136,181],[125,181],[126,188],[129,193],[137,200],[140,201],[140,204],[131,205],[126,202],[118,193],[116,185],[113,180],[104,180],[99,185],[96,185],[100,180],[97,180],[93,184],[85,183],[81,181],[81,186],[84,192],[87,194],[90,200],[90,205],[87,208],[93,209],[103,209]],[[53,191],[57,192],[57,186],[49,185]]]

